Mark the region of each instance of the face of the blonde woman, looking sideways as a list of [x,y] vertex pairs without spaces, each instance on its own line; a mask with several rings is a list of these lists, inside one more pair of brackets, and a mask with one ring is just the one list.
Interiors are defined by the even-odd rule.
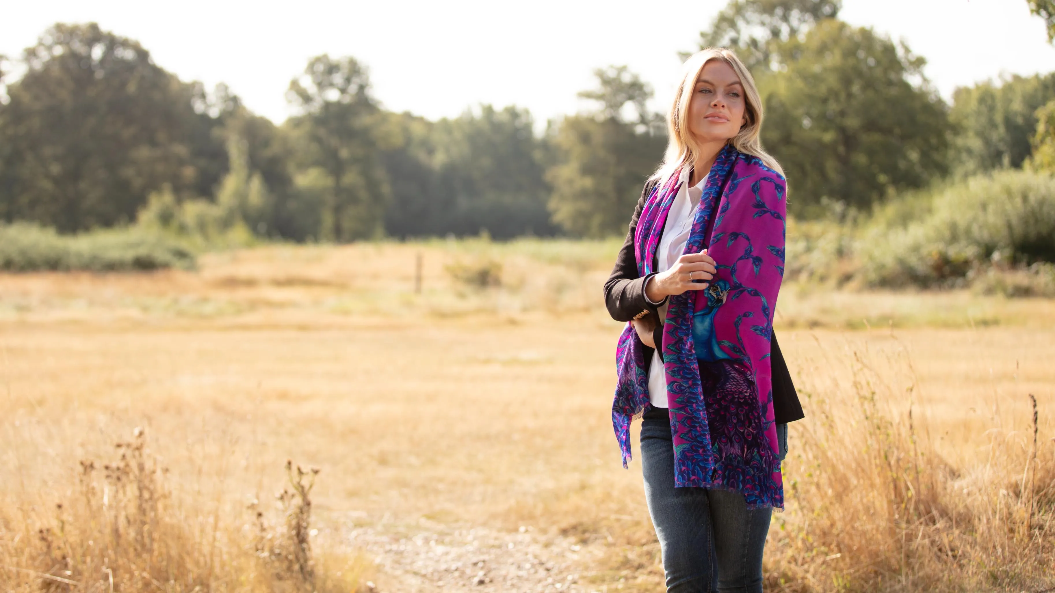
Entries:
[[744,85],[725,60],[704,64],[689,100],[689,133],[701,142],[727,140],[747,123]]

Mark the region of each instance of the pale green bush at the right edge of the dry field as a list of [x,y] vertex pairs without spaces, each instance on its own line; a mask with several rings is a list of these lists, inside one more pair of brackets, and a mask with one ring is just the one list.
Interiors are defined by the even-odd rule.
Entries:
[[907,224],[878,218],[860,236],[869,285],[958,286],[991,267],[1037,271],[1055,262],[1055,177],[1049,174],[1000,171],[908,197],[929,204],[917,206],[920,215]]

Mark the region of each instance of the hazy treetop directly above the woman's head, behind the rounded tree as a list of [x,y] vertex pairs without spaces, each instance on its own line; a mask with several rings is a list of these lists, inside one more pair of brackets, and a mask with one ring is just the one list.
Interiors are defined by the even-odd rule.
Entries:
[[784,43],[841,8],[842,0],[731,0],[701,32],[699,49],[729,47],[750,70],[765,70],[775,65]]

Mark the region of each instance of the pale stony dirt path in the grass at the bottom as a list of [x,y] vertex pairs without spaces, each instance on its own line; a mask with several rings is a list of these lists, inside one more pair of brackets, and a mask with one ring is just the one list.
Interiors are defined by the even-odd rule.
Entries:
[[[571,538],[439,525],[397,535],[354,529],[350,542],[373,556],[381,569],[378,593],[434,591],[588,593],[602,589],[580,582],[597,553]],[[387,532],[387,533],[386,533]]]

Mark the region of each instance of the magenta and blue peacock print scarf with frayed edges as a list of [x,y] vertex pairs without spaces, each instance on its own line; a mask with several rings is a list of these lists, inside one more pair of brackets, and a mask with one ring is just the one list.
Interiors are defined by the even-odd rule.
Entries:
[[[639,276],[653,271],[679,178],[675,172],[657,186],[638,217]],[[717,273],[707,289],[670,298],[656,350],[667,372],[674,485],[738,492],[749,509],[784,508],[769,338],[784,276],[785,188],[757,157],[732,146],[718,153],[685,246],[685,253],[706,247]],[[645,347],[628,324],[616,348],[612,404],[625,467],[630,422],[651,405]]]

